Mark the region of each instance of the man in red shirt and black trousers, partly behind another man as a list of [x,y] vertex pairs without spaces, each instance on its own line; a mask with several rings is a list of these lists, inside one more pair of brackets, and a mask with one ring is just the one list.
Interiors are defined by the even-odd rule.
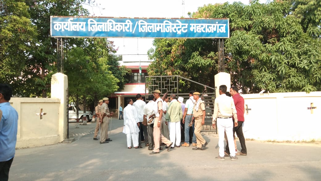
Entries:
[[[239,89],[235,86],[230,88],[230,94],[231,96],[233,96],[235,108],[237,111],[236,114],[238,116],[238,126],[233,128],[233,135],[236,132],[236,135],[238,136],[241,144],[241,151],[239,153],[236,153],[236,155],[246,156],[247,150],[242,129],[242,125],[244,123],[244,99],[242,96],[240,96]],[[230,154],[229,145],[226,145],[225,152]]]

